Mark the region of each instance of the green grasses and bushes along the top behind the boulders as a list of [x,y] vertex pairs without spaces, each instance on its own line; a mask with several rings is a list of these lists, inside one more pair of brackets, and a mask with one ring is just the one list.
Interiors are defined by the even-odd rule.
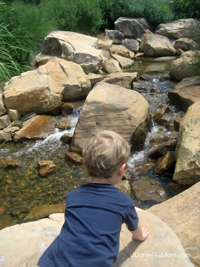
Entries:
[[[155,29],[177,18],[199,18],[200,0],[0,0],[0,82],[30,69],[53,30],[95,35],[120,16],[145,17]],[[193,27],[199,43],[197,27]],[[192,36],[194,37],[194,35]],[[193,38],[194,39],[194,38]],[[199,49],[199,48],[198,48]],[[195,66],[200,62],[195,54]],[[191,72],[193,73],[193,72]]]

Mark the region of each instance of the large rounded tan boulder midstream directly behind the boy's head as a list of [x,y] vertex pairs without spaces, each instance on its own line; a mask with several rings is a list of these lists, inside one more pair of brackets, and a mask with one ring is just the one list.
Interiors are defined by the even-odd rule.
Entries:
[[119,133],[135,149],[141,149],[150,125],[149,104],[141,94],[99,82],[85,100],[70,148],[82,152],[90,132],[107,129]]

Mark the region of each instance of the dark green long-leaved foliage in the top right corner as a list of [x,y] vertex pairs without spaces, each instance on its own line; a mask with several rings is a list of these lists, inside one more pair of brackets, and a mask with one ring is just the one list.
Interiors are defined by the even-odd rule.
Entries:
[[167,0],[175,19],[199,19],[200,0]]

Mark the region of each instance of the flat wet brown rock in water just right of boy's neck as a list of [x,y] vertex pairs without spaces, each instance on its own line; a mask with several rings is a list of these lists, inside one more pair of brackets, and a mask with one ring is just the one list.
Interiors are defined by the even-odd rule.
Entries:
[[158,185],[151,185],[147,181],[133,182],[133,191],[139,201],[154,200],[156,202],[166,201],[166,191]]

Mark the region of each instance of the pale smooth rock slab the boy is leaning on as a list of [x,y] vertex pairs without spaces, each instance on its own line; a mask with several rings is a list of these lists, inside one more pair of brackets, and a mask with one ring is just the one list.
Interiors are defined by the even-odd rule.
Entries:
[[[141,224],[149,228],[150,234],[144,241],[132,240],[131,233],[125,224],[121,227],[120,247],[114,267],[192,267],[189,258],[179,258],[185,250],[175,233],[155,215],[136,208]],[[0,231],[0,251],[2,267],[33,267],[36,266],[43,251],[60,233],[64,223],[64,213],[51,214],[45,218],[25,224],[17,224]],[[152,253],[176,254],[177,257],[143,256]]]

